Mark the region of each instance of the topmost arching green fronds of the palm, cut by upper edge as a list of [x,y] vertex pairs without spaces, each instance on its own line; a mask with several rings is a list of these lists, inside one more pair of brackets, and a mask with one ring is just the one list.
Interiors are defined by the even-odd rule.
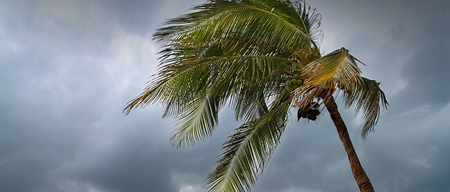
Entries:
[[[285,1],[276,2],[289,8]],[[260,1],[210,1],[197,7],[198,12],[186,15],[190,19],[168,21],[166,24],[174,26],[161,28],[154,38],[163,46],[199,46],[211,39],[236,37],[251,38],[259,43],[291,50],[312,43],[305,24],[298,26],[293,19],[271,12],[274,8],[269,6]],[[180,23],[183,25],[179,26]]]

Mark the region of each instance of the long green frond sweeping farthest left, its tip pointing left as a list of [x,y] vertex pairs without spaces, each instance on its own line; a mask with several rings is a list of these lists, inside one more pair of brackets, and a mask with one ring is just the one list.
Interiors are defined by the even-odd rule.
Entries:
[[242,55],[208,57],[191,63],[165,66],[144,93],[129,102],[124,111],[129,113],[132,108],[154,102],[185,106],[196,98],[195,95],[212,93],[221,85],[264,84],[274,87],[282,81],[279,78],[283,70],[289,70],[289,66],[294,64],[282,57]]

